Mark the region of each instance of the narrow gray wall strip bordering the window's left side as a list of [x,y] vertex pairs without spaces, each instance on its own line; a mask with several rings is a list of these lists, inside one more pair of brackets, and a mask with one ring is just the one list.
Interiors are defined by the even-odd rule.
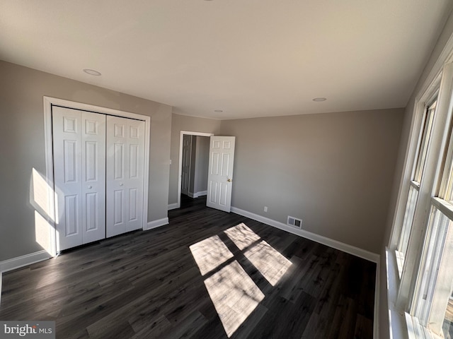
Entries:
[[401,133],[401,143],[398,150],[398,160],[396,162],[396,170],[394,174],[394,183],[392,186],[392,193],[390,199],[390,206],[389,206],[389,214],[386,222],[386,228],[384,230],[384,239],[381,245],[381,271],[380,271],[380,291],[379,291],[379,338],[382,339],[389,339],[389,305],[387,302],[387,276],[386,276],[386,254],[385,254],[385,247],[389,245],[391,239],[391,228],[393,225],[394,214],[396,212],[396,200],[398,198],[398,189],[401,182],[401,177],[403,174],[403,165],[406,159],[406,148],[408,146],[409,141],[409,133],[411,132],[411,122],[413,118],[413,109],[415,105],[415,97],[419,94],[423,83],[428,78],[428,75],[435,65],[437,59],[440,57],[442,50],[447,44],[447,41],[453,34],[453,13],[450,13],[449,18],[447,19],[447,23],[440,33],[440,37],[435,43],[435,46],[432,50],[431,56],[421,72],[421,76],[418,80],[417,85],[415,85],[415,89],[411,95],[411,98],[408,101],[408,105],[405,109],[405,117],[403,123],[403,129]]

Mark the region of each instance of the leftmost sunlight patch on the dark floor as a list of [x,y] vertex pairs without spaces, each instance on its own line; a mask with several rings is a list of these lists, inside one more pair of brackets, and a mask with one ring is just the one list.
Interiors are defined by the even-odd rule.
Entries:
[[229,258],[233,258],[233,254],[218,235],[197,242],[189,246],[189,249],[192,251],[193,258],[202,275],[217,268]]

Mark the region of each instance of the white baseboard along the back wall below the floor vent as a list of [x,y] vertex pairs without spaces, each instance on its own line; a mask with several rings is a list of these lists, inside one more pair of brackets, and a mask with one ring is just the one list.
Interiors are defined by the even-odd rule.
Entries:
[[240,208],[231,207],[231,212],[243,215],[244,217],[251,218],[253,220],[263,222],[263,224],[270,225],[276,227],[280,230],[299,235],[299,237],[303,237],[306,239],[313,240],[314,242],[319,242],[319,244],[323,244],[334,249],[339,249],[340,251],[352,254],[354,256],[358,256],[360,258],[367,259],[372,261],[373,263],[379,263],[379,254],[375,254],[370,251],[366,251],[365,249],[360,249],[358,247],[345,244],[343,242],[338,242],[337,240],[330,239],[328,237],[323,237],[322,235],[311,233],[305,230],[298,230],[285,225],[282,222],[278,222],[269,218],[265,218],[262,215],[258,215],[255,213],[248,212],[246,210],[241,210]]

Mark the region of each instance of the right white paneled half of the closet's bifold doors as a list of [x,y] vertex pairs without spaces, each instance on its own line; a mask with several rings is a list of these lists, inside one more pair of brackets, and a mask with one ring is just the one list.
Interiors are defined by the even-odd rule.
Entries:
[[107,117],[106,235],[143,227],[144,121]]

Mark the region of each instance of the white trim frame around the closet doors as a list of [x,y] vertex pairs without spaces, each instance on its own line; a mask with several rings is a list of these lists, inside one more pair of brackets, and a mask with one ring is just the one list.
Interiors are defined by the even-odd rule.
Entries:
[[142,230],[147,230],[148,220],[148,184],[149,184],[149,140],[151,131],[151,117],[131,112],[120,111],[107,107],[88,105],[81,102],[58,99],[56,97],[43,97],[44,101],[44,136],[45,136],[45,180],[47,183],[47,203],[50,211],[46,216],[47,223],[52,227],[50,230],[50,255],[57,255],[57,230],[55,226],[55,192],[54,187],[54,157],[52,152],[52,105],[71,109],[80,109],[89,112],[114,115],[144,121],[144,178],[143,178],[143,215]]

